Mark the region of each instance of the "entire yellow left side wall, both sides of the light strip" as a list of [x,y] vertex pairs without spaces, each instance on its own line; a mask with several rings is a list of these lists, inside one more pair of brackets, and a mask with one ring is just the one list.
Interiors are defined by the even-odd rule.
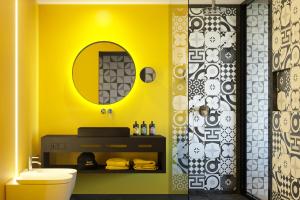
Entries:
[[[37,5],[19,1],[20,140],[19,171],[27,167],[31,135],[37,135]],[[0,2],[0,200],[4,184],[14,176],[14,1]]]

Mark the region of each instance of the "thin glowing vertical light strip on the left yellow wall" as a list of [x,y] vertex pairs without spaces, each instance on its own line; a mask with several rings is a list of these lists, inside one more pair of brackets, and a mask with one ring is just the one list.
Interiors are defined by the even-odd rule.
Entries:
[[19,0],[15,0],[15,177],[19,175]]

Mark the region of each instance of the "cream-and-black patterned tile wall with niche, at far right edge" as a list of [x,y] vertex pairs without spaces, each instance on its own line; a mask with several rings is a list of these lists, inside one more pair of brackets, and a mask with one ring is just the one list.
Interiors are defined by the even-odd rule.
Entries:
[[272,199],[300,199],[300,1],[273,0]]

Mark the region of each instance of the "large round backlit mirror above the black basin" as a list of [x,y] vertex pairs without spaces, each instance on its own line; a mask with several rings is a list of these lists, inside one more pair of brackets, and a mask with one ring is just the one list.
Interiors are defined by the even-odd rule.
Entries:
[[113,104],[128,95],[135,81],[135,65],[129,53],[113,42],[96,42],[77,55],[73,81],[85,99]]

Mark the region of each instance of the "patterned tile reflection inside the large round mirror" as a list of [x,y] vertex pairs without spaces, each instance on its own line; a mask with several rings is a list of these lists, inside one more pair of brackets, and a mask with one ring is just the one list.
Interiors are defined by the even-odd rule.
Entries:
[[133,60],[124,52],[99,52],[99,58],[99,104],[120,101],[135,81]]

